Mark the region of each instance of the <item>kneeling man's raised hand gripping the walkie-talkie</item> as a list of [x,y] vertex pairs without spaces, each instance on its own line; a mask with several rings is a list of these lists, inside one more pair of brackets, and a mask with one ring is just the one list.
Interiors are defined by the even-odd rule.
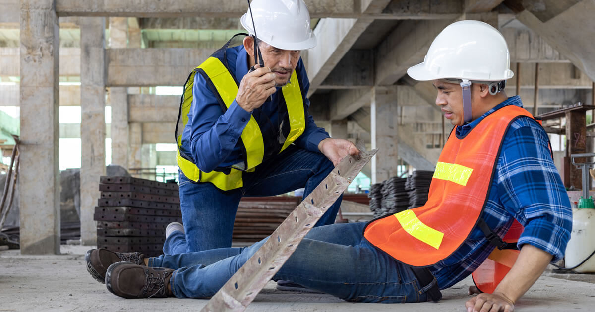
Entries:
[[236,94],[237,104],[249,113],[261,107],[267,97],[277,91],[275,73],[271,73],[268,67],[258,68],[256,65],[255,68],[242,78]]

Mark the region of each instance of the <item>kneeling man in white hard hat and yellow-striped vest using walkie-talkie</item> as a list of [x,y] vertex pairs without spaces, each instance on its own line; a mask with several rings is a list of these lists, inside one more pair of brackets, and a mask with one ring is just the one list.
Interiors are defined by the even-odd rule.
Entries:
[[[251,6],[240,19],[250,33],[243,45],[230,47],[230,40],[184,86],[176,128],[184,225],[168,226],[165,254],[230,247],[243,196],[298,188],[308,196],[333,163],[359,153],[350,141],[329,138],[308,114],[300,51],[317,40],[306,5],[255,0]],[[334,223],[339,205],[317,225]]]

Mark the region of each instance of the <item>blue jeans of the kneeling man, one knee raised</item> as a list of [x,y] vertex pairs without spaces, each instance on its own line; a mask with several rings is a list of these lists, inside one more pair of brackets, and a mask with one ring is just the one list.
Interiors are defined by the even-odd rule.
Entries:
[[[305,198],[333,169],[333,163],[321,153],[292,145],[256,167],[256,171],[244,172],[244,186],[236,190],[221,191],[211,183],[195,183],[180,171],[180,206],[186,236],[170,235],[165,239],[163,253],[230,247],[242,196],[275,196],[305,187]],[[341,198],[315,226],[334,223]]]

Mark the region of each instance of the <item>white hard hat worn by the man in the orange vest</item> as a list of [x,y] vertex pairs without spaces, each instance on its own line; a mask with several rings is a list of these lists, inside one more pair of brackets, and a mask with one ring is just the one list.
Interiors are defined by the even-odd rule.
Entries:
[[506,40],[481,21],[458,21],[441,31],[430,45],[424,62],[409,67],[415,80],[456,78],[501,81],[513,76]]

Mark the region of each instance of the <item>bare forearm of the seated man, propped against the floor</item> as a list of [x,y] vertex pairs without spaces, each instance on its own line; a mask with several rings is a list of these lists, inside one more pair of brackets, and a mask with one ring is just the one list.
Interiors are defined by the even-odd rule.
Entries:
[[533,245],[525,244],[521,248],[515,264],[500,282],[494,294],[500,294],[516,302],[537,281],[552,255]]

